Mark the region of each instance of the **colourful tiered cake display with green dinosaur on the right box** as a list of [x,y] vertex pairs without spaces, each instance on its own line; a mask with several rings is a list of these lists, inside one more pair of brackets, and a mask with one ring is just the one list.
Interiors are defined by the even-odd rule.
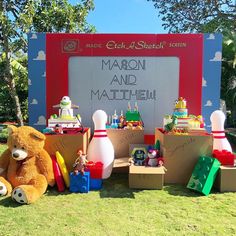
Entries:
[[188,115],[187,102],[180,97],[175,102],[175,109],[172,115],[166,115],[163,120],[165,131],[172,134],[188,134],[191,131],[205,131],[201,115]]

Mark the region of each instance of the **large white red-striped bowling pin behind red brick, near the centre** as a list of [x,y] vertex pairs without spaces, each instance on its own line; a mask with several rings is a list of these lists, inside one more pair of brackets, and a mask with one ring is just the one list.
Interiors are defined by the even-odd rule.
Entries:
[[94,136],[89,143],[87,156],[89,161],[103,163],[103,179],[110,177],[115,156],[111,140],[107,137],[106,122],[107,114],[104,111],[97,110],[94,112]]

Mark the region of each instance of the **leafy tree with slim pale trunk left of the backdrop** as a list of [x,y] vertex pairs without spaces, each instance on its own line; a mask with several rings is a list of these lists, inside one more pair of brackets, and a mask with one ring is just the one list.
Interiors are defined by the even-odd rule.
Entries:
[[23,125],[21,104],[27,102],[20,101],[22,86],[16,82],[27,86],[27,73],[22,73],[27,67],[26,60],[22,61],[27,52],[27,33],[94,32],[95,28],[86,22],[93,9],[93,0],[75,5],[68,0],[0,0],[0,95],[8,89],[19,125]]

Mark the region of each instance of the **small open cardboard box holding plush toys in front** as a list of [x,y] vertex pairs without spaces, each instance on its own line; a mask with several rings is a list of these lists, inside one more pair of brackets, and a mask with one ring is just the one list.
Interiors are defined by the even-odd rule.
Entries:
[[163,167],[129,167],[129,187],[136,189],[162,189],[165,171]]

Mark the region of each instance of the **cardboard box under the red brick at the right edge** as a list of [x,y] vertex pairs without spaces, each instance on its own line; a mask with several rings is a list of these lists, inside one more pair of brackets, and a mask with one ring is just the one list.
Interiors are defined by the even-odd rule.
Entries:
[[221,166],[214,186],[220,192],[236,192],[236,167]]

